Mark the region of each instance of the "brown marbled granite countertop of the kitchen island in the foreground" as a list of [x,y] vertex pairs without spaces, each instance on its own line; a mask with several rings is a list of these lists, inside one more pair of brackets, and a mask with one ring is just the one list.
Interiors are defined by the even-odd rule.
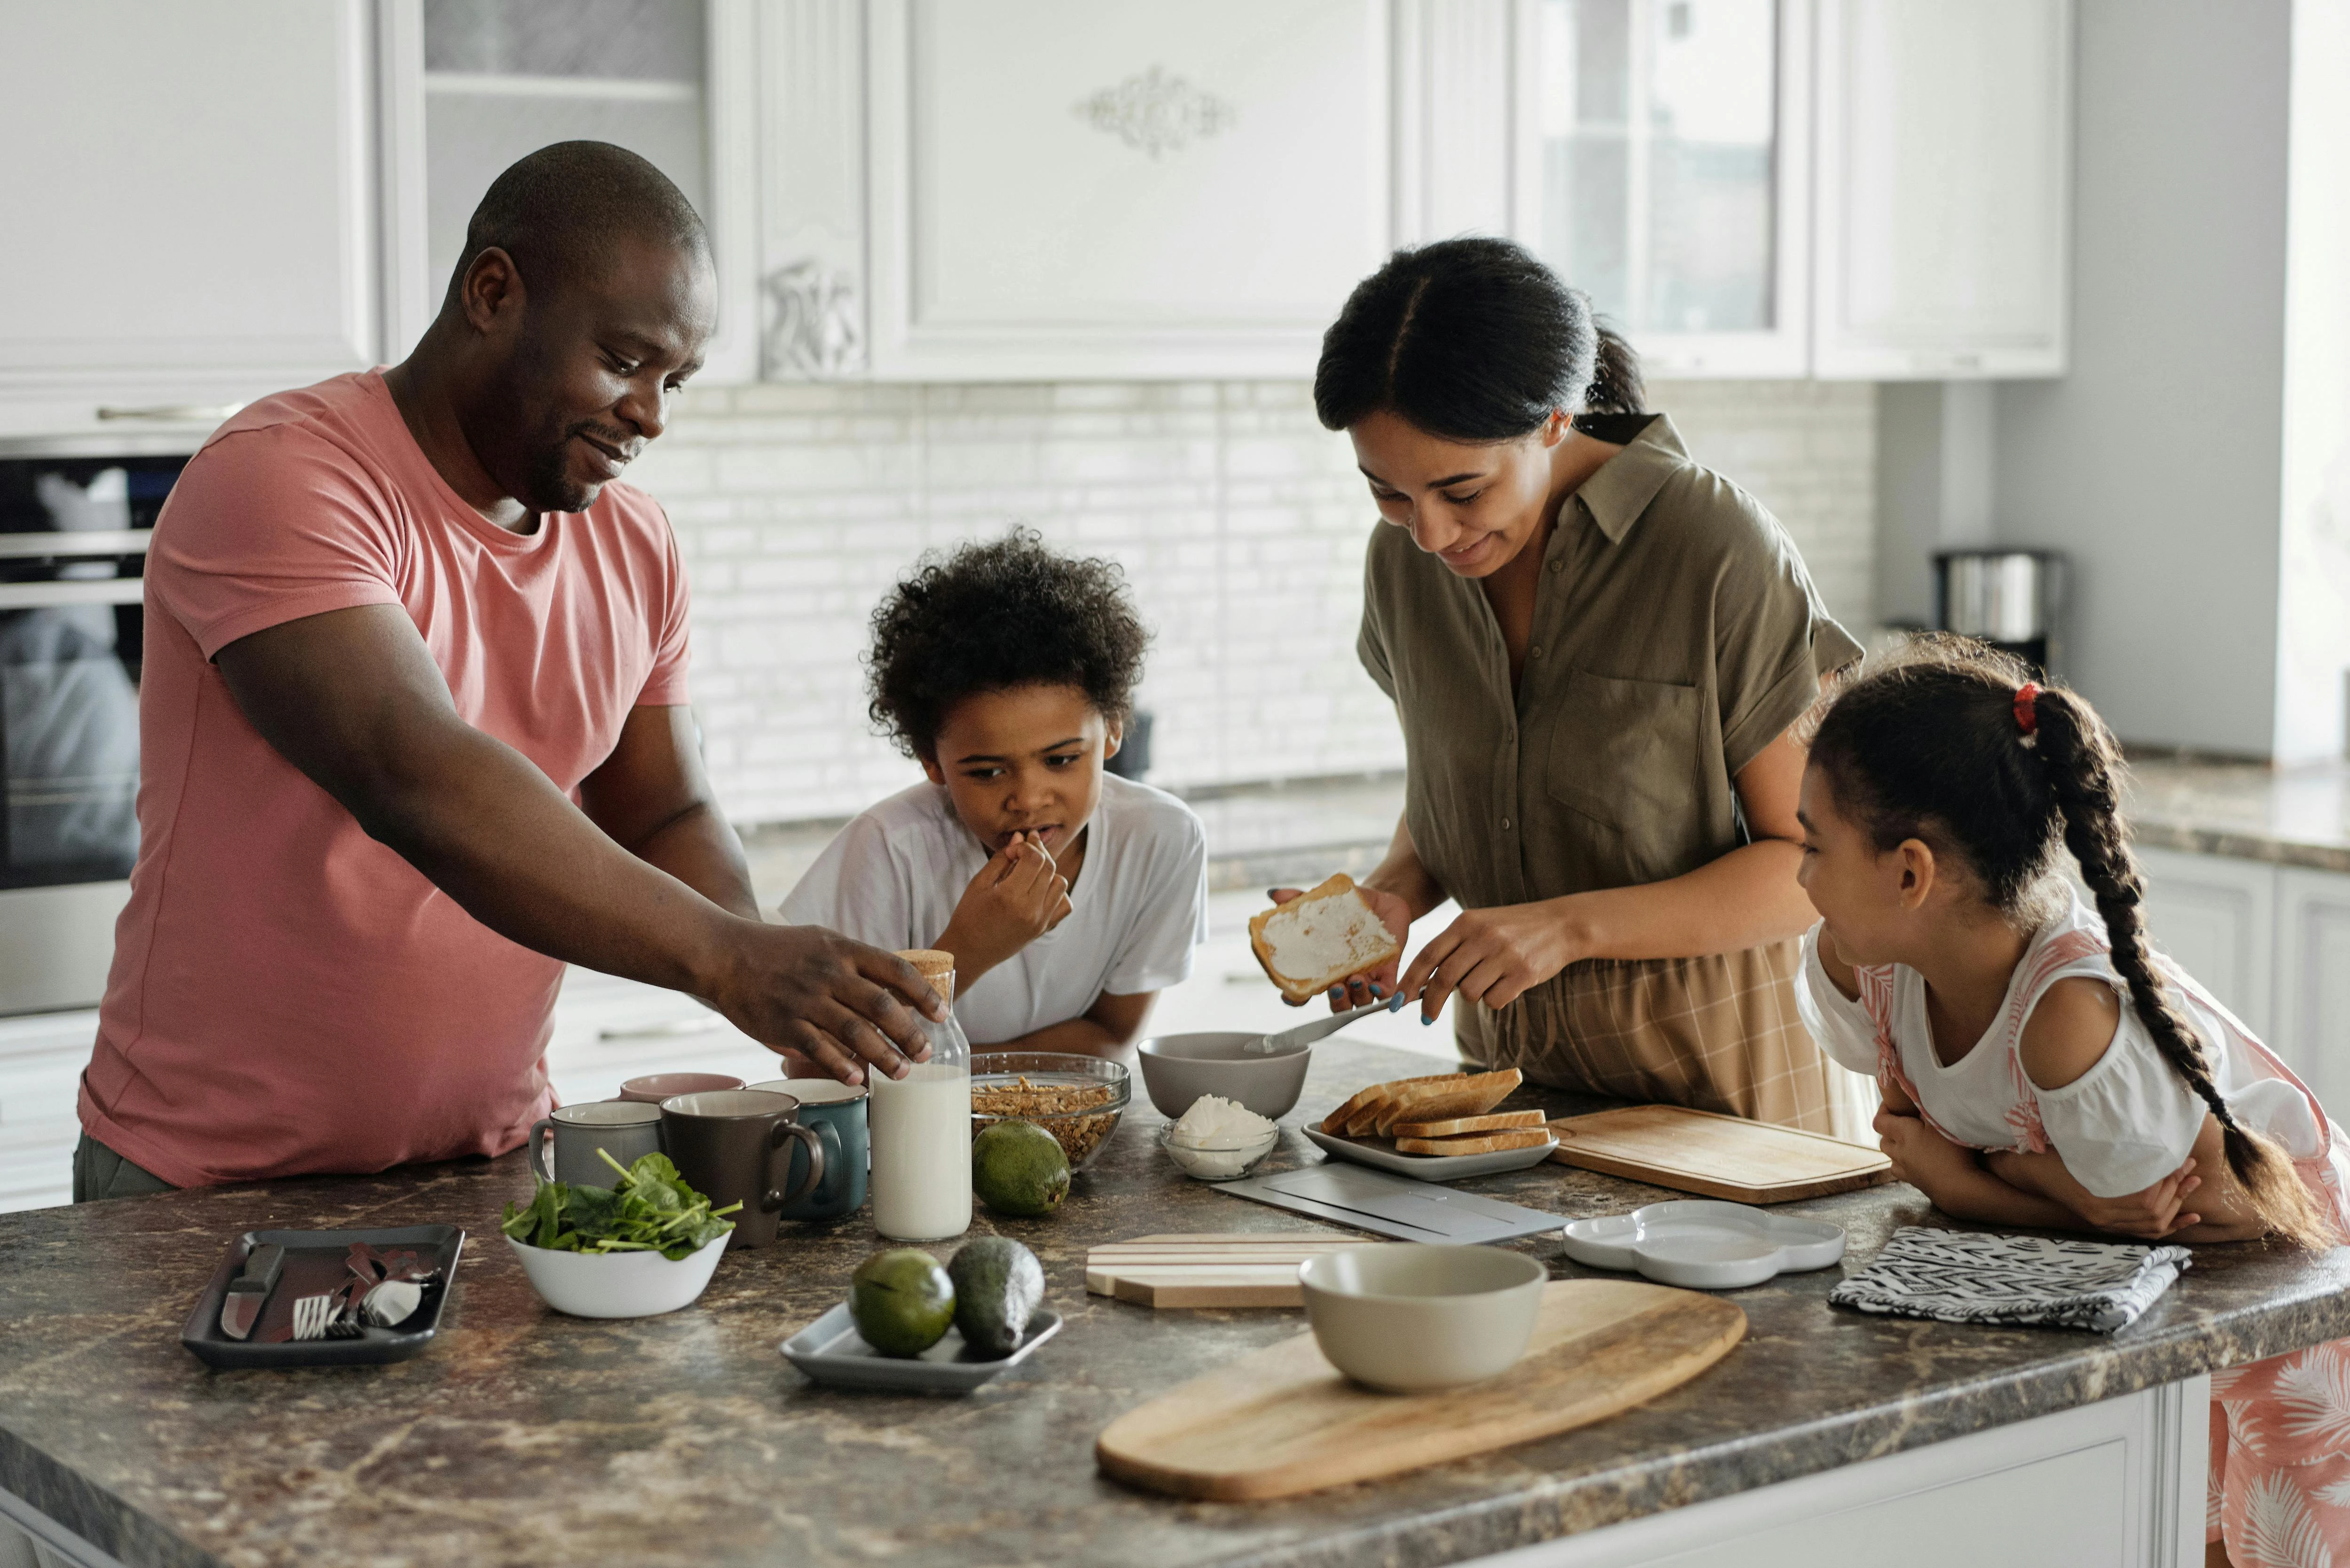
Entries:
[[[1330,1041],[1295,1131],[1426,1058]],[[1523,1103],[1537,1098],[1520,1093]],[[1584,1110],[1544,1093],[1553,1112]],[[1302,1331],[1297,1312],[1088,1298],[1086,1248],[1304,1222],[1189,1182],[1137,1103],[1050,1220],[989,1222],[1043,1258],[1067,1328],[968,1399],[806,1385],[776,1345],[874,1248],[860,1218],[733,1253],[693,1307],[557,1316],[496,1215],[519,1157],[0,1215],[0,1486],[125,1563],[1452,1563],[2350,1335],[2350,1248],[2204,1248],[2127,1333],[1969,1328],[1826,1307],[1838,1269],[1732,1295],[1723,1363],[1614,1420],[1375,1486],[1173,1502],[1093,1467],[1112,1418]],[[1567,1215],[1652,1187],[1539,1166],[1469,1182]],[[1847,1267],[1929,1220],[1908,1187],[1788,1206],[1849,1227]],[[221,1248],[263,1225],[472,1232],[442,1338],[385,1368],[212,1373],[179,1326]],[[1556,1239],[1518,1244],[1582,1274]],[[945,1251],[945,1248],[940,1248]]]

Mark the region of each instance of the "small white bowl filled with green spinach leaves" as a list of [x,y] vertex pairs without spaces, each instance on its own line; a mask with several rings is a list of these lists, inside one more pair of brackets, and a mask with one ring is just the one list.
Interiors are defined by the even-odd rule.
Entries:
[[712,1211],[667,1154],[604,1161],[620,1178],[613,1187],[538,1182],[529,1206],[505,1206],[498,1227],[531,1288],[571,1316],[658,1316],[691,1305],[719,1267],[738,1204]]

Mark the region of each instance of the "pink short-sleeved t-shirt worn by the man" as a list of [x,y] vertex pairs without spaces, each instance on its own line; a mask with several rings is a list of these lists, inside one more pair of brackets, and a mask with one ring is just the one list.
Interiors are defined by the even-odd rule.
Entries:
[[139,863],[82,1126],[176,1185],[501,1154],[548,1110],[562,964],[489,931],[280,757],[212,656],[400,604],[456,710],[576,799],[686,701],[686,578],[649,496],[484,522],[383,376],[256,402],[181,473],[146,571]]

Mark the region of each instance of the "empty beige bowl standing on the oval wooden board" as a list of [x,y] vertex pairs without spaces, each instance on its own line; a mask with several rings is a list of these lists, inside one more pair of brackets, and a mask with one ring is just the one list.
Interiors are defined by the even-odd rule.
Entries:
[[1499,1378],[1535,1335],[1551,1272],[1490,1246],[1349,1246],[1297,1279],[1330,1366],[1386,1394]]

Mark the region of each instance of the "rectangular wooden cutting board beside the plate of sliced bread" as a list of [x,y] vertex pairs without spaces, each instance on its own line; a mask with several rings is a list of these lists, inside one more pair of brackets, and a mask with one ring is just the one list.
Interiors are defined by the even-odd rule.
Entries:
[[1563,1166],[1734,1204],[1786,1204],[1892,1180],[1880,1150],[1683,1105],[1622,1105],[1551,1121]]

